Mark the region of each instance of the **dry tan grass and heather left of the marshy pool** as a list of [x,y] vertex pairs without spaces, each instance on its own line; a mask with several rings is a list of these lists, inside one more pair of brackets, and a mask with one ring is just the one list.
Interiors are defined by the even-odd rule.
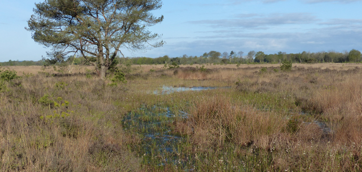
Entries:
[[[14,83],[0,93],[0,171],[139,170],[126,148],[131,136],[115,122],[126,112],[110,101],[124,95],[122,89],[104,89],[102,81],[84,76],[35,75]],[[49,108],[38,102],[45,94],[70,103]],[[69,115],[56,115],[62,113]]]

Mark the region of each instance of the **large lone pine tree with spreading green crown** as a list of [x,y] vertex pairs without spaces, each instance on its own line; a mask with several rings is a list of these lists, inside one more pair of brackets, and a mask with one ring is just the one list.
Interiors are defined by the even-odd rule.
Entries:
[[137,51],[146,43],[164,44],[160,35],[147,30],[164,19],[150,13],[161,8],[161,0],[45,0],[35,6],[26,28],[34,41],[52,47],[51,58],[85,57],[102,79],[122,55],[121,48]]

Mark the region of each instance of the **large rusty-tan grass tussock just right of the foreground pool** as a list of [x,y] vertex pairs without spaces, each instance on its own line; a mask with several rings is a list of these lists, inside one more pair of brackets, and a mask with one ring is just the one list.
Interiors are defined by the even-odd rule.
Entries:
[[193,139],[203,147],[222,147],[232,142],[267,148],[265,138],[280,134],[288,122],[276,113],[256,111],[220,95],[202,99],[194,107],[190,117]]

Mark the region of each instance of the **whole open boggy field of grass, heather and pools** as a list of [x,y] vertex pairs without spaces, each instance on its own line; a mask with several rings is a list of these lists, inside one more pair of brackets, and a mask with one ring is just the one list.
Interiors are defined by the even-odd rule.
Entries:
[[361,64],[200,67],[9,67],[0,172],[362,171]]

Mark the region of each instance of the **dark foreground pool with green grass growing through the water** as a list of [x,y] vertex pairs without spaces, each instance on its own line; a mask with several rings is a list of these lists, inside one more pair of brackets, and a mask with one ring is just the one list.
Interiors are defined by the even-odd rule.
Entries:
[[187,118],[187,113],[171,108],[154,106],[142,107],[130,113],[123,120],[124,129],[137,133],[142,141],[134,145],[145,164],[164,166],[166,164],[183,165],[180,145],[185,139],[172,132],[172,122]]

